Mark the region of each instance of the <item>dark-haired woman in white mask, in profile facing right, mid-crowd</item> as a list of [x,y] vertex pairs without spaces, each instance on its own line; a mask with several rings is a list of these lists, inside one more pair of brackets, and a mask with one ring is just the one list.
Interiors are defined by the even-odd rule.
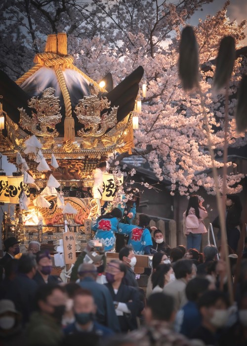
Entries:
[[170,264],[160,264],[152,274],[152,293],[162,292],[165,285],[175,280],[175,275]]

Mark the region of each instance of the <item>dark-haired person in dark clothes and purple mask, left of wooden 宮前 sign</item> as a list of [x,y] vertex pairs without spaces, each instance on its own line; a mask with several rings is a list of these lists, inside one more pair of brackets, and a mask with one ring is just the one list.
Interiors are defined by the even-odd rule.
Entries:
[[38,285],[43,285],[47,283],[61,283],[61,279],[57,275],[51,275],[52,261],[49,251],[44,250],[36,254],[37,261],[37,272],[34,276],[34,281]]

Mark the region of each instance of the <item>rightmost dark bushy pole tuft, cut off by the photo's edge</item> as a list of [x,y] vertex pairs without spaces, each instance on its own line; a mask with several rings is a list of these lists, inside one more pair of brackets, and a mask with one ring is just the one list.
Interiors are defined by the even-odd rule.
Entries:
[[237,131],[243,132],[247,130],[247,75],[245,75],[238,90],[238,105],[236,111]]

